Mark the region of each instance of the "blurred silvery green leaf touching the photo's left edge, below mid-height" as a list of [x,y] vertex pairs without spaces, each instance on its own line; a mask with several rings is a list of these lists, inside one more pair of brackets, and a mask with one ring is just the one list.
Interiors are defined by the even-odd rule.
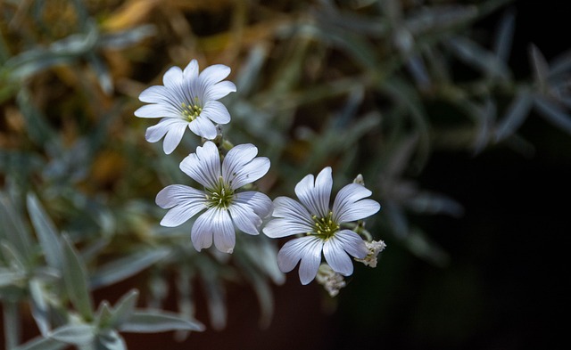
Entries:
[[12,200],[0,192],[0,239],[6,239],[24,261],[31,256],[31,238],[24,227],[20,213],[14,210]]

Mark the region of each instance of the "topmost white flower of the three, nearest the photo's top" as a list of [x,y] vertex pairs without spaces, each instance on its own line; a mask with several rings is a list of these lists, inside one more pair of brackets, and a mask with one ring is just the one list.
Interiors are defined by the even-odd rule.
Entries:
[[227,124],[230,114],[218,102],[220,98],[236,91],[236,85],[222,81],[230,74],[223,64],[207,67],[198,74],[198,62],[190,61],[184,70],[171,67],[164,73],[164,85],[150,86],[139,95],[141,102],[148,102],[135,111],[141,118],[162,118],[159,124],[147,128],[145,138],[157,142],[164,137],[162,148],[170,154],[177,148],[185,134],[186,126],[194,133],[213,140],[216,124]]

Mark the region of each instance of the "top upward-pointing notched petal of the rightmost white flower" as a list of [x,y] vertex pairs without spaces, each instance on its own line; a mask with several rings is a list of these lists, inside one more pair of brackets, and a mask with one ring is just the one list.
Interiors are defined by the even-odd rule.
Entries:
[[303,205],[310,209],[311,214],[325,217],[329,214],[329,198],[332,187],[331,167],[325,167],[319,172],[315,183],[313,175],[306,175],[302,181],[297,183],[295,194]]

